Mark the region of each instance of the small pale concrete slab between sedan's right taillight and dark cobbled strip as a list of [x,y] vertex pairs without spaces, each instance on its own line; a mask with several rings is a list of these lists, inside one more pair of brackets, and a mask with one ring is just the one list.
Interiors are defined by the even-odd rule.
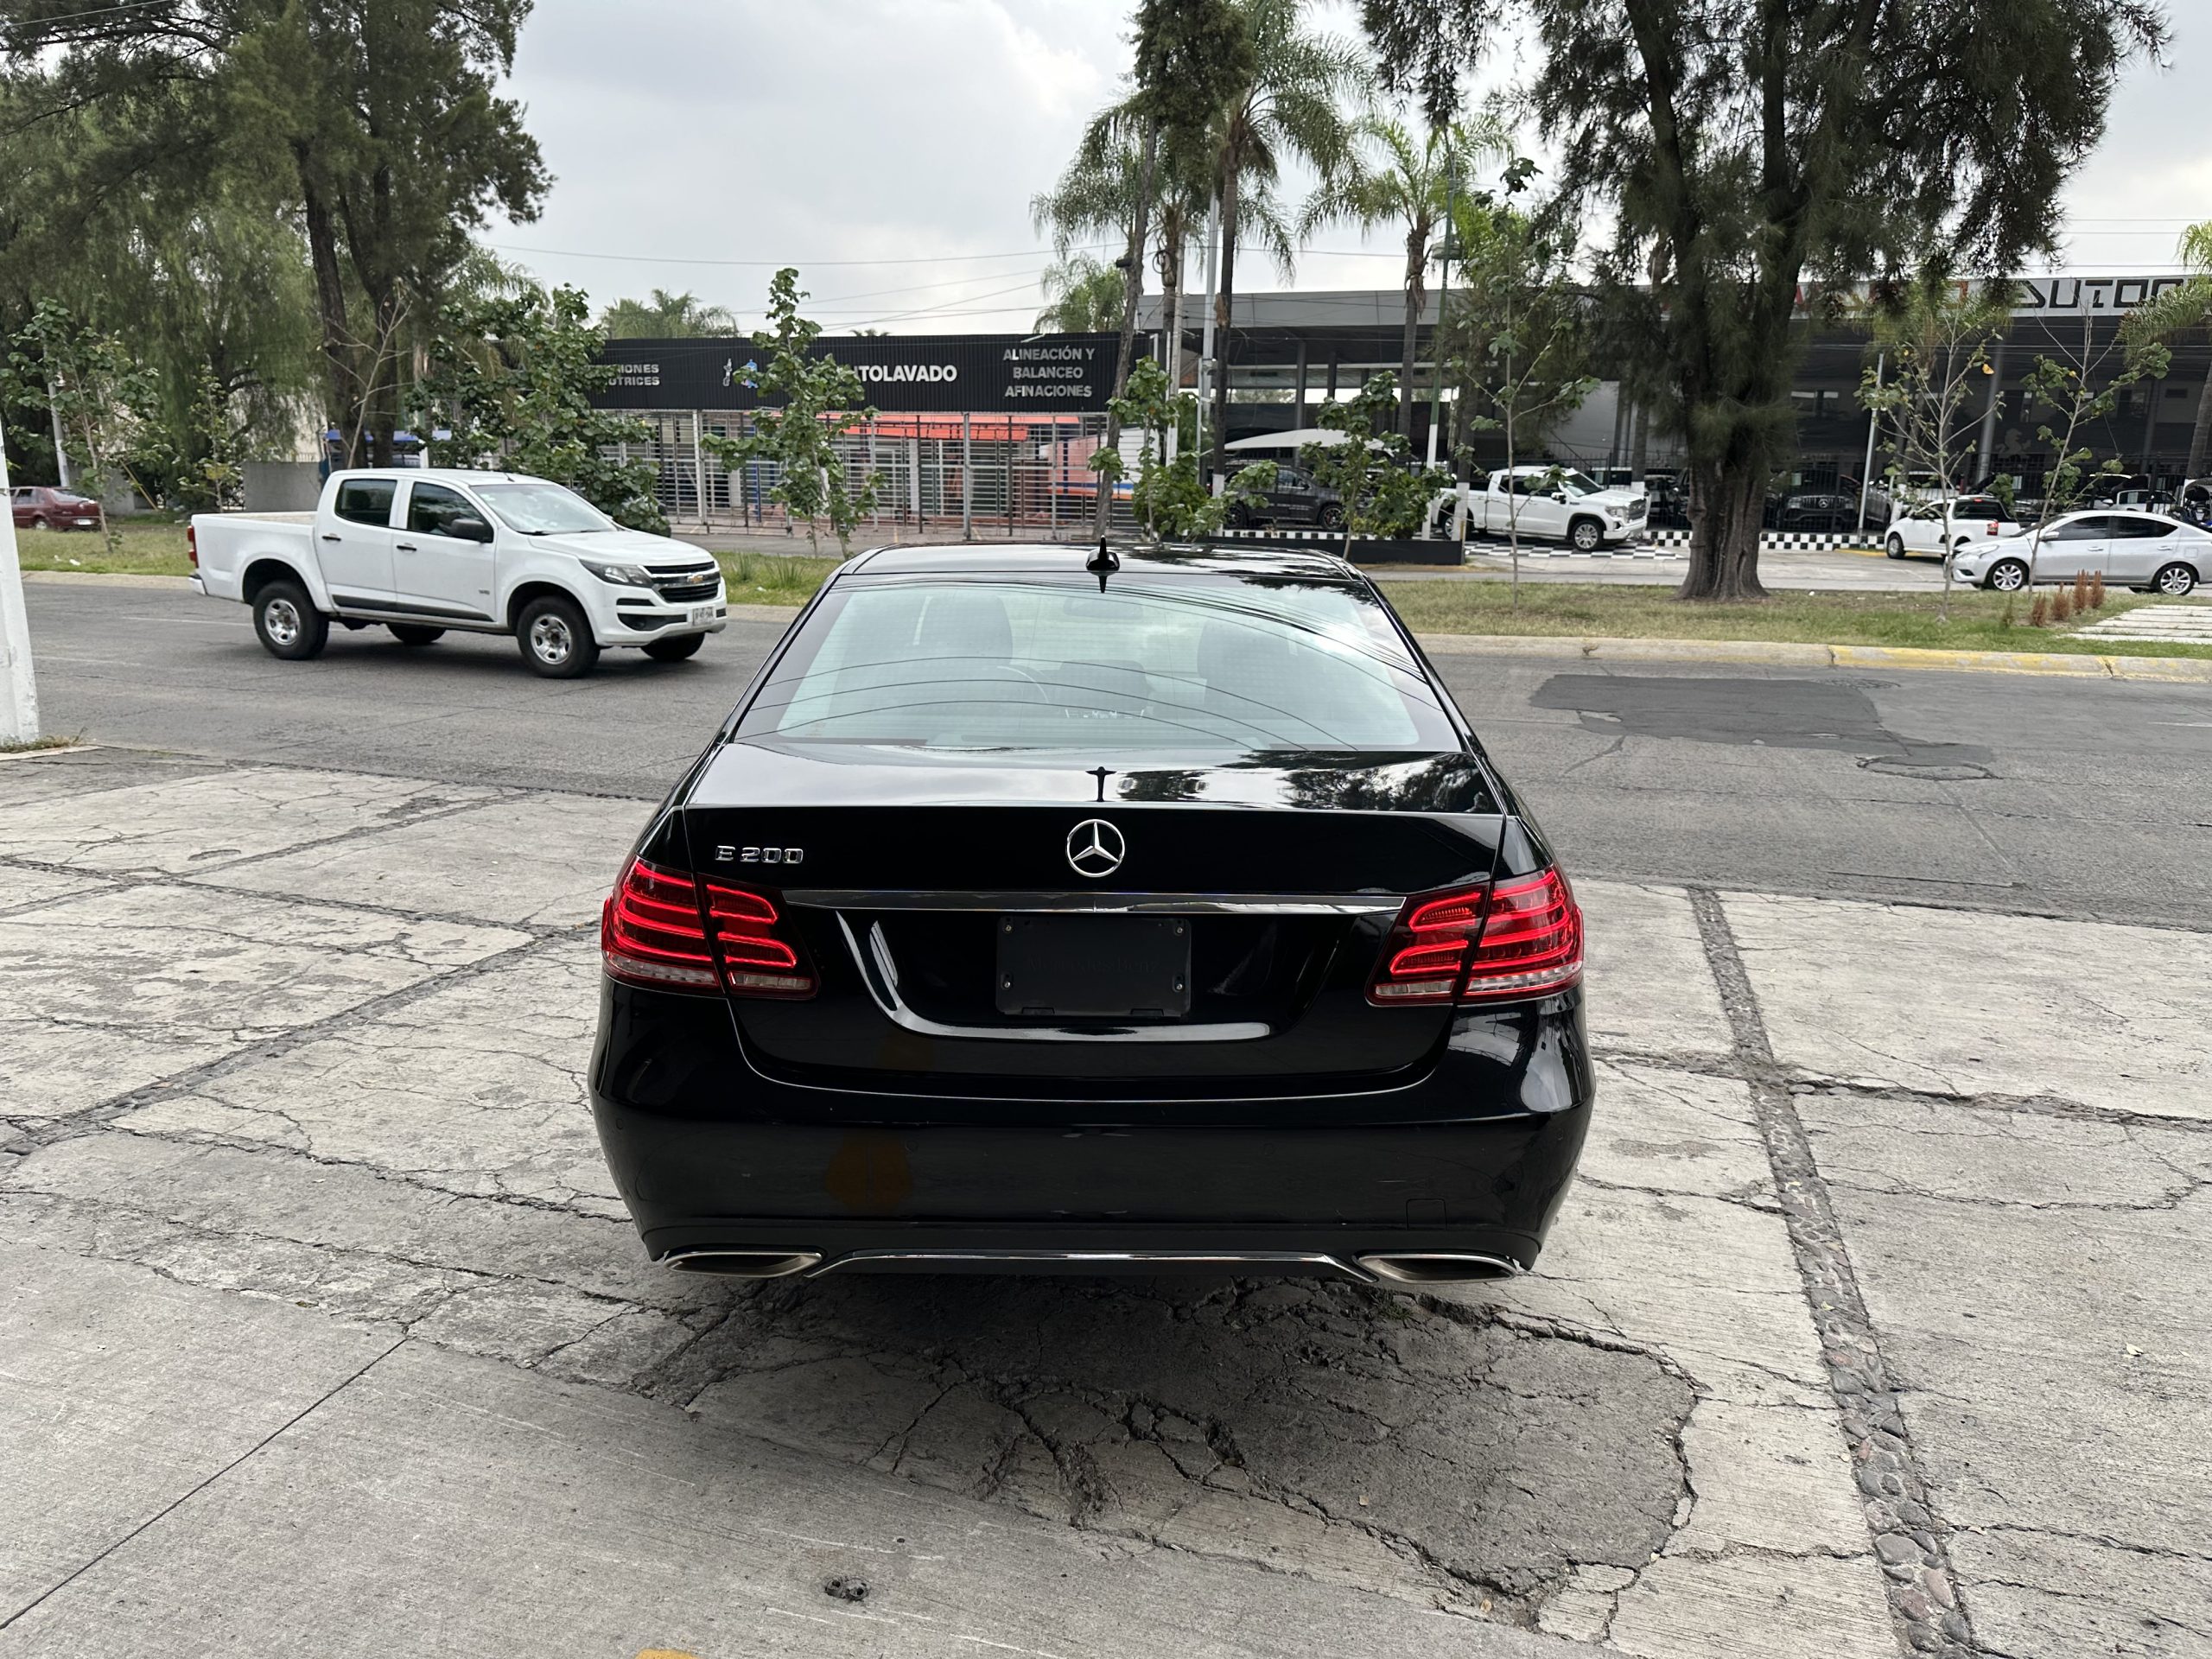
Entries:
[[1679,887],[1577,880],[1586,918],[1590,1044],[1648,1055],[1725,1055],[1728,1015]]

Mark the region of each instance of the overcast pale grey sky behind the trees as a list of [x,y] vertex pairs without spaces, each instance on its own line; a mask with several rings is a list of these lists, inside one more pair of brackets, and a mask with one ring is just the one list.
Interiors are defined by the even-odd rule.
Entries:
[[[801,268],[832,332],[1029,327],[1051,261],[1029,199],[1128,62],[1117,0],[538,0],[513,91],[544,146],[544,217],[493,226],[502,257],[597,303],[690,290],[759,323]],[[2135,66],[2070,190],[2068,270],[2172,265],[2212,217],[2203,119],[2212,7],[2174,4],[2179,69]],[[1349,4],[1316,24],[1352,33]],[[1298,288],[1391,288],[1376,232],[1321,237]],[[1197,283],[1197,259],[1192,259]],[[1279,288],[1245,254],[1239,288]]]

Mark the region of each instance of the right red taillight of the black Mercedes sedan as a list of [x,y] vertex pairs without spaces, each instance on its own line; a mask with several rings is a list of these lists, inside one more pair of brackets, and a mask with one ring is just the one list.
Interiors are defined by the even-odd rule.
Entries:
[[1367,1000],[1498,1002],[1566,991],[1579,980],[1582,907],[1566,876],[1546,869],[1407,900]]

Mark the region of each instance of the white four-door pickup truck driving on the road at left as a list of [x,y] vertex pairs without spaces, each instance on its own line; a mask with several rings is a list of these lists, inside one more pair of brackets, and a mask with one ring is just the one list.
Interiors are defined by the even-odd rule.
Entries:
[[288,661],[321,655],[332,622],[403,646],[465,628],[513,635],[531,672],[575,679],[602,650],[681,661],[728,626],[712,553],[522,473],[332,473],[312,513],[195,513],[190,551],[192,586],[250,604]]

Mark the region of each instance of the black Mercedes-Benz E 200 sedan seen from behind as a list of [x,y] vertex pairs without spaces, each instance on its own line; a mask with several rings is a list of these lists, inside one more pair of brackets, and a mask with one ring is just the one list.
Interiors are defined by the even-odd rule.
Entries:
[[863,553],[637,841],[591,1095],[653,1259],[1528,1267],[1582,911],[1376,588],[1305,553]]

